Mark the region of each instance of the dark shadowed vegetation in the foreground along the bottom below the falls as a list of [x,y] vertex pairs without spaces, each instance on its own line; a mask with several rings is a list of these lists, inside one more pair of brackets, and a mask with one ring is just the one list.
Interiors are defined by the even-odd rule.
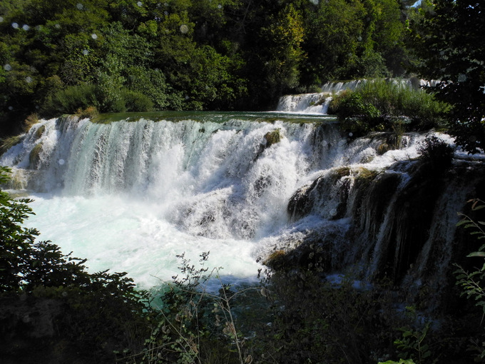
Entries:
[[[430,140],[423,154],[428,158],[441,148]],[[0,183],[7,173],[1,168]],[[124,273],[87,273],[85,260],[36,243],[38,232],[21,226],[32,213],[28,202],[0,191],[2,363],[375,364],[402,358],[399,363],[424,364],[484,358],[483,267],[459,267],[458,285],[473,300],[437,316],[423,316],[419,306],[397,307],[399,291],[386,278],[372,289],[352,275],[325,279],[317,260],[273,268],[261,287],[235,290],[220,280],[220,268],[205,266],[208,253],[199,266],[179,256],[180,278],[148,300]],[[475,201],[459,223],[479,238],[484,222],[472,213],[483,207]],[[480,263],[484,255],[483,246],[471,253]],[[206,290],[209,280],[219,282],[218,293]]]

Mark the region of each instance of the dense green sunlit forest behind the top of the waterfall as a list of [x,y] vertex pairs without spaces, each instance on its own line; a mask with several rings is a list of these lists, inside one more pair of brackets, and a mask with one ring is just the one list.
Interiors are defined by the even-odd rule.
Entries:
[[402,76],[396,0],[2,1],[0,119],[274,107],[331,79]]

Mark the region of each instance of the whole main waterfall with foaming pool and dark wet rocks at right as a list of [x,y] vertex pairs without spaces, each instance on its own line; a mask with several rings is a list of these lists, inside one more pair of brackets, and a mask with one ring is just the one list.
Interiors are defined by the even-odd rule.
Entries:
[[195,261],[210,251],[238,281],[255,279],[257,258],[275,250],[311,263],[315,246],[328,273],[353,266],[411,290],[441,284],[456,211],[484,184],[481,161],[429,177],[418,133],[393,149],[389,133],[351,139],[316,116],[158,119],[41,121],[0,160],[35,199],[28,223],[41,239],[142,287],[170,279],[184,252]]

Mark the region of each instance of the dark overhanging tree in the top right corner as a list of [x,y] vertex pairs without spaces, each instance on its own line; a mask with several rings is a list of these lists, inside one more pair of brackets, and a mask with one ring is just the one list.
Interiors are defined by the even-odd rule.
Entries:
[[479,0],[435,0],[414,47],[423,62],[424,79],[441,82],[434,88],[450,103],[450,133],[469,153],[485,148],[485,3]]

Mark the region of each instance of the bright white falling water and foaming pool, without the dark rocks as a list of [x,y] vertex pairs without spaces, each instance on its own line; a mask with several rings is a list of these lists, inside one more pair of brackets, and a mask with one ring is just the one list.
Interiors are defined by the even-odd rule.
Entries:
[[[406,148],[379,156],[376,136],[349,143],[330,125],[258,120],[52,119],[0,163],[14,166],[14,179],[35,199],[27,224],[41,240],[88,258],[90,271],[126,271],[148,288],[177,274],[175,256],[184,252],[195,263],[210,251],[208,266],[223,267],[230,282],[255,280],[256,259],[278,242],[321,226],[348,228],[345,218],[328,220],[331,201],[290,222],[287,203],[297,188],[339,166],[382,170],[415,158],[424,138],[407,136]],[[282,140],[265,148],[265,134],[276,129]]]

